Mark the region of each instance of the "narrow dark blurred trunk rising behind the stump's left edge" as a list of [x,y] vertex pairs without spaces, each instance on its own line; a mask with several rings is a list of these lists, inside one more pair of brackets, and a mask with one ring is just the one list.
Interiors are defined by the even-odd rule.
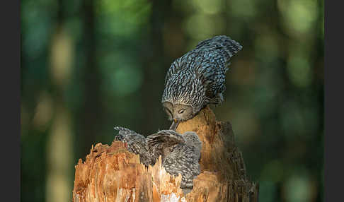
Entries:
[[81,68],[81,83],[84,85],[84,103],[81,123],[79,126],[79,140],[82,141],[82,154],[87,152],[88,145],[95,141],[96,133],[99,131],[99,124],[102,123],[102,102],[101,102],[101,75],[96,63],[96,20],[95,1],[83,0],[81,12],[83,19],[83,42],[84,42],[84,64]]

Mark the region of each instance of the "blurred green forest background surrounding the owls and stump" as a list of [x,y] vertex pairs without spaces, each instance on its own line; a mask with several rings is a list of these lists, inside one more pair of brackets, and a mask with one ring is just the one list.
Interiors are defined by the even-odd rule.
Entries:
[[115,125],[166,129],[169,65],[214,35],[243,45],[213,109],[260,201],[323,201],[323,1],[23,0],[21,26],[21,201],[71,198]]

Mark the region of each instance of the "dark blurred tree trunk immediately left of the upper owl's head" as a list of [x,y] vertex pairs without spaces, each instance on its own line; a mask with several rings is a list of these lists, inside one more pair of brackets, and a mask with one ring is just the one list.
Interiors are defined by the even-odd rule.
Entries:
[[[171,14],[172,13],[172,14]],[[149,19],[149,35],[144,37],[148,39],[142,46],[142,67],[144,73],[144,83],[142,83],[142,104],[144,105],[142,114],[142,133],[148,133],[152,130],[151,126],[161,126],[168,128],[167,119],[156,119],[156,117],[165,117],[161,107],[161,95],[164,90],[164,78],[171,60],[166,58],[164,52],[164,33],[166,22],[174,18],[172,11],[172,1],[151,1],[151,16]],[[156,130],[156,128],[153,128]]]

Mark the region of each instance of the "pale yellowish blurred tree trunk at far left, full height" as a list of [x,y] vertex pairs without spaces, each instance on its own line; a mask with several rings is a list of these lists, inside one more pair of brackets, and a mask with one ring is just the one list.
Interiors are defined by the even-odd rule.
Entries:
[[57,23],[50,46],[50,81],[54,117],[47,138],[47,201],[69,201],[73,156],[72,121],[65,104],[73,64],[74,44],[64,27],[64,1],[58,1]]

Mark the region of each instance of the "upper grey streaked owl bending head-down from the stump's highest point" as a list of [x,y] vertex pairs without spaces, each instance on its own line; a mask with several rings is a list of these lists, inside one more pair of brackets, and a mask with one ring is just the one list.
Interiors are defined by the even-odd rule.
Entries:
[[242,46],[227,36],[216,36],[197,44],[171,64],[166,73],[161,103],[176,130],[180,121],[192,119],[209,104],[219,105],[226,90],[229,59]]

